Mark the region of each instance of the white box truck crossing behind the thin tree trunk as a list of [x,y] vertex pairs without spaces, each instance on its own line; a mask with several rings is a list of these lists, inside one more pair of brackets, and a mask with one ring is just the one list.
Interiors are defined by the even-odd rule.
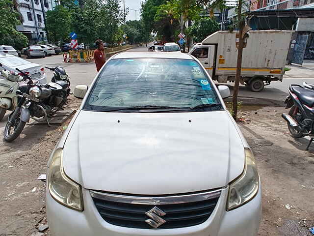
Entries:
[[[219,83],[235,81],[238,31],[217,31],[202,43],[193,46],[189,54],[196,57],[213,80]],[[271,81],[282,81],[285,73],[291,30],[252,30],[243,48],[242,85],[260,92]]]

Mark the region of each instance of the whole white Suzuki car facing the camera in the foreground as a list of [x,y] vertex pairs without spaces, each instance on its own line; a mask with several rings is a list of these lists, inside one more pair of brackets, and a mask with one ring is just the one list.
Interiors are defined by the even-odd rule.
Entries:
[[107,60],[48,161],[52,236],[257,236],[253,153],[188,54]]

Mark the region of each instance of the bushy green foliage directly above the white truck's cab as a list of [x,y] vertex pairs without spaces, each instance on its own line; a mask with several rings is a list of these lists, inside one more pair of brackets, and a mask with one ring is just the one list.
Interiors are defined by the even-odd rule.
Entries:
[[196,42],[202,42],[207,36],[219,30],[218,23],[210,18],[201,18],[190,28],[189,34]]

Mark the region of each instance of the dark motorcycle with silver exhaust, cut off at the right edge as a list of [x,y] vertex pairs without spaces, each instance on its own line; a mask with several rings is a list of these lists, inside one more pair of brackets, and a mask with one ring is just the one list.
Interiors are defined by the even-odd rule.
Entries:
[[286,109],[290,108],[288,114],[283,113],[282,118],[287,121],[288,130],[292,137],[303,138],[310,136],[309,150],[314,141],[314,85],[303,83],[290,85],[289,96],[285,100]]

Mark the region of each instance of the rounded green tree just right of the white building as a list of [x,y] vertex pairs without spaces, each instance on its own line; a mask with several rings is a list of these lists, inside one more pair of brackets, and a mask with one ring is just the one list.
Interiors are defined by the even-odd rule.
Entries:
[[52,11],[47,12],[46,28],[55,44],[62,43],[71,32],[72,18],[68,8],[56,5]]

